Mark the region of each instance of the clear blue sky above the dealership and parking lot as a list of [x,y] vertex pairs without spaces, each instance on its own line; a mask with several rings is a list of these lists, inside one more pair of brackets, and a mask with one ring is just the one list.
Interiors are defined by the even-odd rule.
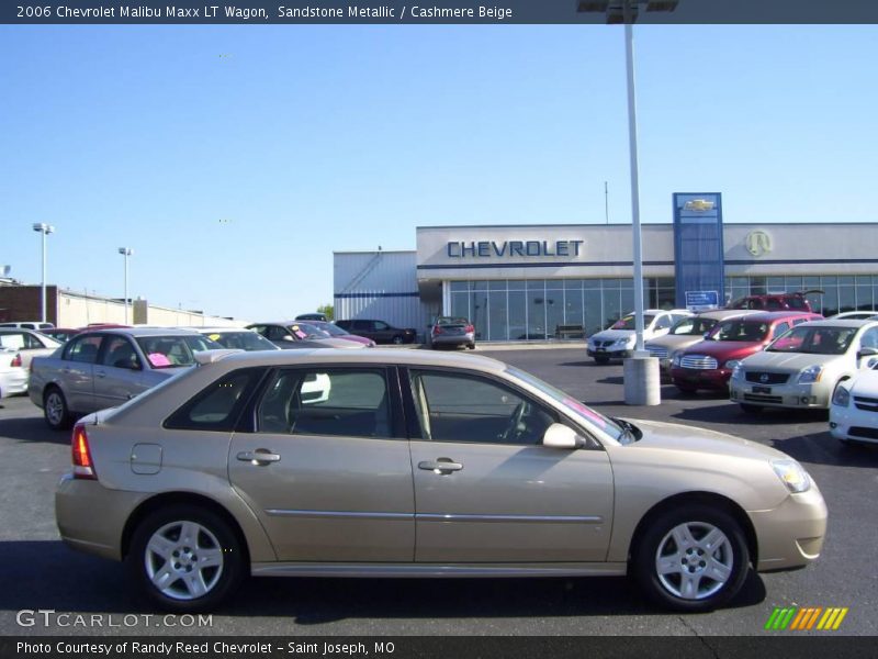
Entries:
[[[641,209],[878,221],[878,27],[637,26]],[[618,26],[2,26],[0,265],[247,320],[415,226],[630,222]],[[414,284],[413,284],[414,286]]]

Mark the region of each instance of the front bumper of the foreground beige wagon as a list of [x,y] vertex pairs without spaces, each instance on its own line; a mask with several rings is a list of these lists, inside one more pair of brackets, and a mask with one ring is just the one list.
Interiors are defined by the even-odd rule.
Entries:
[[747,513],[756,532],[756,570],[795,570],[814,561],[826,536],[826,503],[817,484],[778,507]]

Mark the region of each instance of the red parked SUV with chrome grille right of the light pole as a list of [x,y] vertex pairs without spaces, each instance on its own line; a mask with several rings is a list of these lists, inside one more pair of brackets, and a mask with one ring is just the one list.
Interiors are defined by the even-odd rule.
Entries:
[[707,333],[705,340],[674,356],[671,378],[685,393],[699,389],[724,391],[740,360],[758,353],[793,325],[822,319],[817,313],[776,311],[722,321]]

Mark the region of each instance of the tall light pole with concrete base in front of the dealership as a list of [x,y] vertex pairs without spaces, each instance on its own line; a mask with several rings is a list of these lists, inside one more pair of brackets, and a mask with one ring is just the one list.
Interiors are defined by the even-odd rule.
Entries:
[[[577,11],[601,12],[607,24],[624,23],[624,59],[628,88],[628,149],[631,165],[631,227],[634,261],[634,357],[626,361],[626,403],[657,405],[661,383],[657,360],[643,349],[643,249],[640,235],[640,186],[638,180],[638,119],[634,94],[634,34],[632,25],[640,7],[648,12],[667,12],[678,0],[579,0]],[[655,361],[655,364],[653,364]]]

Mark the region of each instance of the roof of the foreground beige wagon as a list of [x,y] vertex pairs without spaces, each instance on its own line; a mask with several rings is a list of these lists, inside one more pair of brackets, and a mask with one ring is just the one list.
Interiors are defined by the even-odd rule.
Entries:
[[[199,355],[207,356],[206,353]],[[196,357],[198,358],[198,357]],[[206,357],[202,357],[206,358]],[[448,366],[502,372],[507,366],[503,361],[482,355],[460,353],[434,353],[431,350],[395,350],[372,348],[371,350],[342,350],[335,348],[307,348],[302,350],[269,350],[245,353],[229,350],[216,361],[229,366],[291,366],[308,364],[357,365],[357,366]]]

